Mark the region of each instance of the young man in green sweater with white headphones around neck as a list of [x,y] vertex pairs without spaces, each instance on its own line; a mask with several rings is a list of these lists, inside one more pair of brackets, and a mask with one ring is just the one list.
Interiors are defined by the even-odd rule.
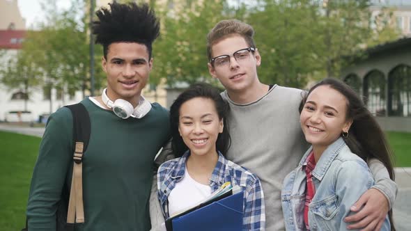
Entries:
[[[74,230],[150,230],[153,161],[171,136],[169,112],[141,95],[153,67],[152,43],[160,24],[147,4],[109,5],[97,11],[99,20],[93,22],[96,43],[103,46],[107,88],[81,102],[91,134],[82,161],[84,221],[79,219]],[[30,231],[56,230],[58,225],[57,205],[72,178],[72,124],[65,107],[47,122],[31,180]],[[75,214],[78,218],[81,209]]]

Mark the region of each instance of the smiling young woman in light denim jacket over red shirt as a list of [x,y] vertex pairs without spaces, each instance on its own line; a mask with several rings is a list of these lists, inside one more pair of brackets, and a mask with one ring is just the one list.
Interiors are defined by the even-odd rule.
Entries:
[[[374,184],[366,164],[378,159],[394,179],[385,136],[357,93],[324,79],[300,106],[300,123],[311,148],[284,179],[281,202],[287,230],[347,230],[343,218]],[[394,230],[391,211],[381,230]]]

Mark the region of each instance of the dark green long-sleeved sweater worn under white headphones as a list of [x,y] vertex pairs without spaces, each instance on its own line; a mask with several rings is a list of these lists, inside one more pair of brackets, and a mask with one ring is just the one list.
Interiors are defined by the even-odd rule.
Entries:
[[[152,104],[144,118],[118,118],[84,99],[91,136],[83,158],[84,224],[76,230],[150,230],[153,160],[169,140],[169,113]],[[72,176],[72,115],[50,116],[33,170],[29,230],[56,229],[56,203]],[[70,189],[70,186],[68,186]]]

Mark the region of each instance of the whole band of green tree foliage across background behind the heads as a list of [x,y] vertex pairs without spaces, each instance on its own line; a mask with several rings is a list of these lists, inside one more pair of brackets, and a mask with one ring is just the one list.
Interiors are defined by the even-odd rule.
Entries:
[[[237,18],[254,27],[262,57],[258,77],[263,83],[296,88],[304,88],[312,79],[339,77],[341,67],[354,60],[348,57],[361,58],[366,47],[398,38],[388,20],[389,9],[371,18],[369,0],[145,2],[155,8],[161,24],[149,80],[154,87],[162,79],[169,86],[196,81],[218,85],[208,73],[206,36],[222,19]],[[63,11],[56,10],[52,0],[43,3],[47,20],[40,31],[27,34],[17,61],[8,67],[3,63],[3,83],[10,88],[28,86],[27,90],[55,86],[68,93],[90,89],[89,1],[72,0],[72,8]],[[102,49],[96,45],[95,50],[95,88],[100,89],[106,84]],[[22,65],[27,67],[19,68]]]

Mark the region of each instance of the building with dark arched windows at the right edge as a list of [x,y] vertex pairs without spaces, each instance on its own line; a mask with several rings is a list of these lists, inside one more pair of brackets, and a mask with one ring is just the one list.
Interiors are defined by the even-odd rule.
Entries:
[[383,129],[411,132],[411,38],[367,49],[341,78],[364,96]]

